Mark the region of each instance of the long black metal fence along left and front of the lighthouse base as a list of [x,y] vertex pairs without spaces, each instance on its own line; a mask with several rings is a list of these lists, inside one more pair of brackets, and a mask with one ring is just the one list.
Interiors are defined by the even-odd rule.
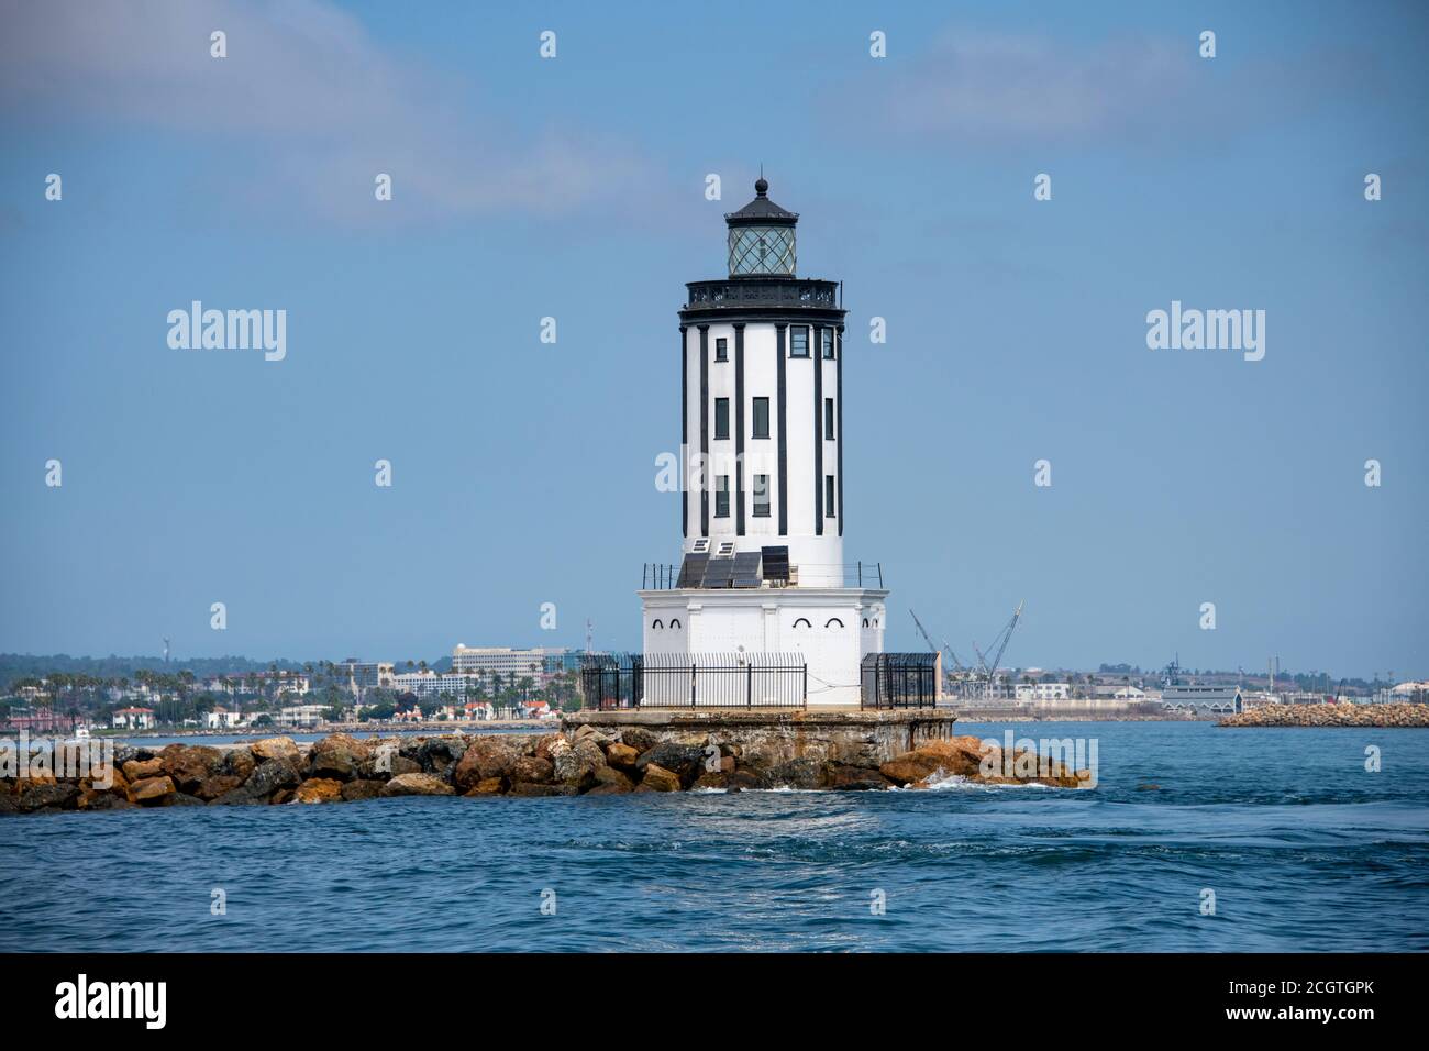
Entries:
[[803,708],[809,668],[800,653],[587,653],[587,708]]

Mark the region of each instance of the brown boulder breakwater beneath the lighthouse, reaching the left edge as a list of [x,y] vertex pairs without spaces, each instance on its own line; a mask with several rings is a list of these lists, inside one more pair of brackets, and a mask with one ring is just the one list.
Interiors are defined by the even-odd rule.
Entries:
[[[412,795],[559,796],[690,789],[803,788],[867,791],[926,788],[946,778],[983,784],[1095,785],[1089,771],[1005,749],[975,736],[950,736],[926,719],[857,719],[837,732],[819,718],[726,719],[704,729],[679,716],[554,734],[450,734],[367,738],[346,734],[312,745],[277,736],[243,745],[124,745],[106,768],[73,775],[27,756],[0,778],[0,814],[131,806],[250,806],[334,804]],[[860,724],[877,731],[857,729]],[[725,731],[720,732],[720,726]],[[819,729],[823,726],[823,729]],[[889,736],[887,726],[896,734]],[[875,734],[869,745],[865,738]],[[906,746],[900,742],[906,741]],[[860,744],[862,742],[862,744]],[[9,775],[13,774],[13,775]]]

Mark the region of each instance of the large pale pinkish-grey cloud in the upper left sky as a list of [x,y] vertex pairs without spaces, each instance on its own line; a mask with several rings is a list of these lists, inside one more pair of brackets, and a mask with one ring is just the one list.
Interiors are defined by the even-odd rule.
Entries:
[[650,170],[623,143],[516,126],[482,84],[390,54],[322,0],[6,3],[0,103],[10,119],[181,133],[231,157],[246,194],[339,220],[373,214],[377,172],[404,214],[479,216],[619,206]]

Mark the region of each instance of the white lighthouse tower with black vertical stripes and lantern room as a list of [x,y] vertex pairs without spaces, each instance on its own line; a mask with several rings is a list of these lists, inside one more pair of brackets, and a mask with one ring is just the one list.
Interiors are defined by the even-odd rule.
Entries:
[[857,705],[887,592],[879,563],[843,553],[845,310],[837,282],[797,276],[799,216],[767,192],[760,177],[725,217],[729,276],[690,282],[680,310],[683,558],[647,569],[644,655],[733,673],[795,659],[807,705]]

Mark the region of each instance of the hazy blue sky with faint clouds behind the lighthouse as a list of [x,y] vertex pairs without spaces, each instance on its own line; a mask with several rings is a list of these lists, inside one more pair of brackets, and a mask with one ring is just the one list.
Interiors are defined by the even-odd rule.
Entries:
[[[1429,678],[1426,40],[1383,1],[6,0],[0,651],[637,646],[683,283],[763,164],[845,282],[887,648],[1026,601],[1015,666]],[[286,356],[171,347],[193,300],[286,310]],[[1263,359],[1150,349],[1173,300],[1265,310]]]

